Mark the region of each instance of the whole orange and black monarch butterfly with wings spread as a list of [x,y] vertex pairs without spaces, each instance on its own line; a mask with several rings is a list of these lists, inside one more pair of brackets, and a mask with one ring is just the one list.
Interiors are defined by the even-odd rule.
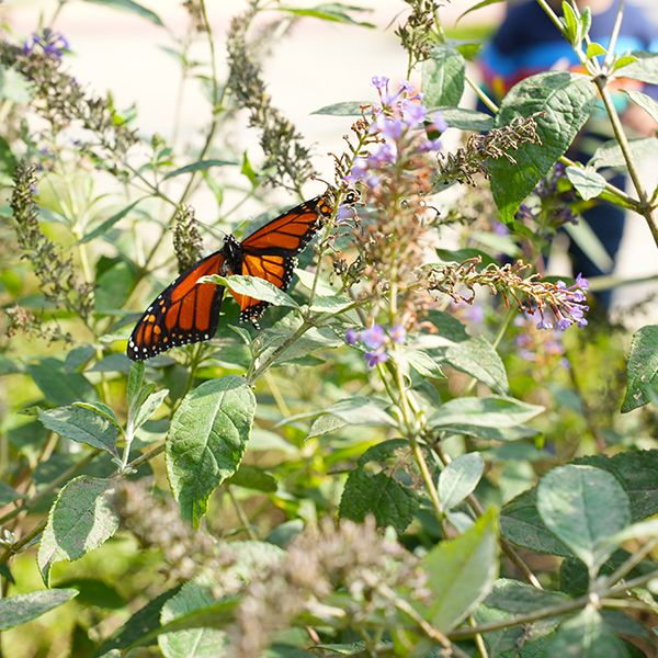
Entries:
[[[356,194],[348,192],[345,202]],[[219,320],[225,288],[200,283],[208,274],[249,274],[259,276],[285,291],[293,277],[295,257],[313,239],[333,212],[327,196],[305,201],[272,219],[241,242],[229,235],[222,249],[206,256],[164,288],[146,309],[128,340],[127,355],[133,361],[150,359],[177,345],[213,338]],[[258,328],[268,302],[234,293],[240,305],[240,321],[250,320]]]

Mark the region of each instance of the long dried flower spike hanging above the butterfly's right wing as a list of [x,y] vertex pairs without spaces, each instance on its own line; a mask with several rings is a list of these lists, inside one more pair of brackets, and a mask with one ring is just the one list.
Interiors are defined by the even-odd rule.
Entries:
[[228,89],[238,104],[249,110],[251,126],[260,129],[270,182],[299,190],[314,173],[310,154],[295,126],[272,105],[261,69],[250,52],[247,32],[258,12],[257,3],[232,19],[228,32]]

